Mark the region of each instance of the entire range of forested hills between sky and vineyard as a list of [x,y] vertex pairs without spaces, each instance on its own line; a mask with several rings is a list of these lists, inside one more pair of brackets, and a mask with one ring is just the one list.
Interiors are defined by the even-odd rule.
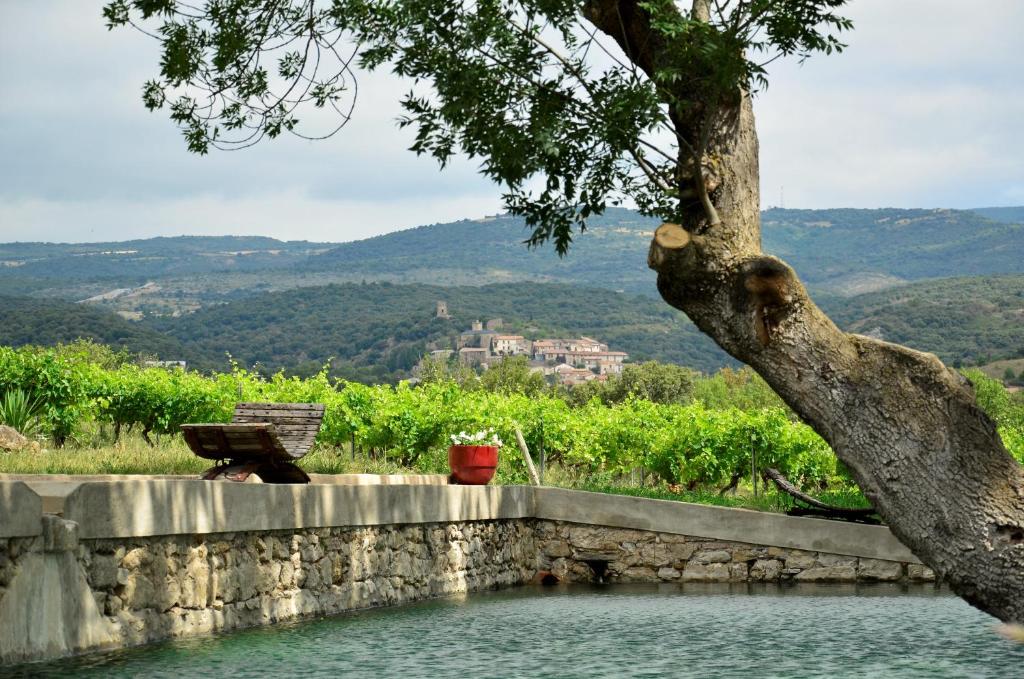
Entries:
[[[790,261],[842,327],[964,365],[1024,356],[1024,208],[772,209],[763,218],[766,251]],[[377,381],[407,377],[471,321],[501,316],[527,337],[591,335],[638,360],[725,365],[656,297],[645,265],[654,226],[609,210],[562,259],[527,250],[521,220],[508,216],[343,245],[0,245],[0,344],[88,337],[201,369],[225,368],[230,353],[299,373],[333,357],[336,374]],[[941,277],[955,278],[932,280]],[[57,301],[83,299],[92,301]],[[433,317],[439,299],[452,321]]]

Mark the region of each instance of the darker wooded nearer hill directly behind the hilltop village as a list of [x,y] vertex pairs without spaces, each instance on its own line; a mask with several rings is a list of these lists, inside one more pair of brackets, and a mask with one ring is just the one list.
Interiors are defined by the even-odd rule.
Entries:
[[[434,317],[447,302],[451,320]],[[664,302],[609,290],[557,284],[441,288],[389,283],[331,285],[266,293],[145,327],[188,347],[193,365],[245,365],[309,372],[328,358],[339,374],[366,380],[406,377],[430,348],[475,320],[501,317],[505,332],[527,337],[586,335],[634,359],[715,370],[733,362],[682,313]]]

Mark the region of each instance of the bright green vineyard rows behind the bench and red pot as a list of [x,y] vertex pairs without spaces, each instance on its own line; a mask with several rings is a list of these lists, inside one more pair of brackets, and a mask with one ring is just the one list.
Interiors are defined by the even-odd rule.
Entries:
[[[94,363],[96,356],[101,363]],[[999,424],[1007,448],[1024,459],[1024,406],[996,381],[969,377],[977,380],[979,405]],[[547,390],[500,393],[443,376],[418,387],[335,382],[328,367],[308,378],[262,377],[237,365],[229,373],[202,376],[142,369],[89,346],[0,347],[0,392],[38,399],[29,410],[57,441],[89,422],[138,427],[150,440],[150,434],[176,434],[186,422],[226,422],[239,401],[323,402],[319,449],[354,442],[382,464],[427,472],[444,470],[452,434],[493,428],[506,444],[503,482],[526,480],[515,444],[519,429],[535,456],[543,450],[549,464],[577,477],[615,478],[646,469],[669,483],[720,487],[734,476],[749,477],[753,457],[759,469],[775,467],[805,487],[852,487],[825,441],[794,421],[753,373],[722,371],[697,379],[693,389],[695,399],[685,405],[632,393],[613,405],[594,397],[570,407]],[[18,421],[31,420],[24,415],[28,397],[10,398],[19,404],[10,409],[23,412]],[[733,398],[744,408],[730,406]]]

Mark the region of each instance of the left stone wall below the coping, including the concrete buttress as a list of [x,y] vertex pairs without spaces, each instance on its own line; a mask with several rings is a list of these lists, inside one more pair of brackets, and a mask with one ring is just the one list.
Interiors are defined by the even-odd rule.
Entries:
[[[532,526],[519,520],[128,540],[78,540],[76,527],[52,522],[60,544],[51,529],[0,539],[0,661],[509,587],[537,571]],[[58,589],[43,591],[47,581]]]

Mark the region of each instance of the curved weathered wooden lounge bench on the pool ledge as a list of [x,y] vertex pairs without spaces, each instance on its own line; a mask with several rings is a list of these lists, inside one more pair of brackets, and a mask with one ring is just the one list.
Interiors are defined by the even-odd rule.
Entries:
[[313,445],[324,422],[323,404],[239,404],[230,424],[183,424],[193,453],[218,464],[202,478],[266,483],[308,483],[295,461]]

